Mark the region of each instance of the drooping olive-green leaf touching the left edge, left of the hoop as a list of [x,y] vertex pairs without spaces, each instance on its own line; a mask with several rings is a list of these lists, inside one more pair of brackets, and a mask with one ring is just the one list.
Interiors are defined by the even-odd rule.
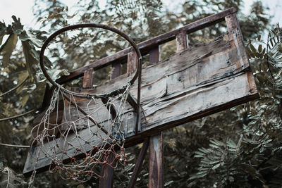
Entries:
[[[8,61],[13,53],[13,50],[16,48],[16,44],[18,42],[18,36],[11,34],[6,40],[5,44],[3,44],[3,49],[1,54],[3,54],[3,67],[6,68],[8,66]],[[1,46],[2,48],[2,46]]]

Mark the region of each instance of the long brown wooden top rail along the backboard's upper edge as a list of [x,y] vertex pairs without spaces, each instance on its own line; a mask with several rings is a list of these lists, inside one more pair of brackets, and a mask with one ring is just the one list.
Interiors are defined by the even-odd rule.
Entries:
[[[140,44],[137,44],[137,46],[139,47],[142,55],[145,55],[149,53],[150,49],[154,49],[156,46],[159,46],[160,44],[164,44],[165,42],[176,39],[176,35],[178,35],[180,32],[187,32],[189,34],[191,32],[201,30],[204,27],[208,27],[209,25],[214,25],[216,23],[223,21],[226,15],[230,15],[235,12],[236,12],[235,8],[228,8],[226,11],[222,11],[221,13],[210,15],[207,18],[202,18],[201,20],[197,20],[193,23],[180,27],[176,30],[172,30],[171,32],[166,32],[152,39],[148,39],[145,42],[141,42]],[[56,80],[56,82],[58,82],[59,84],[63,84],[71,80],[75,80],[76,78],[82,76],[85,70],[92,68],[95,70],[97,68],[102,68],[106,65],[109,65],[114,61],[123,61],[126,59],[130,51],[132,51],[131,47],[129,47],[128,49],[124,49],[122,51],[118,51],[118,53],[99,59],[94,63],[90,63],[90,65],[86,65],[82,68],[73,70],[73,72],[71,72],[70,75],[63,76],[58,80]]]

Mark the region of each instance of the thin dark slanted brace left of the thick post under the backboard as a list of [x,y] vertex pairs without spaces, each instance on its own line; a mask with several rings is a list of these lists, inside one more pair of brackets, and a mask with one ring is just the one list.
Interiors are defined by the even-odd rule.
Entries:
[[137,162],[133,170],[133,175],[131,176],[130,182],[128,184],[128,188],[133,188],[136,183],[137,177],[141,171],[142,164],[147,153],[148,146],[149,146],[149,139],[147,138],[145,139],[145,142],[143,143],[142,149],[137,158]]

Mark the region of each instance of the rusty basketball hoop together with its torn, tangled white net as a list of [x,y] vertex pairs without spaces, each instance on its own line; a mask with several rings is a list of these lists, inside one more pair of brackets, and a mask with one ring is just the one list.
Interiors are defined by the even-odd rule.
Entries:
[[[111,30],[122,35],[133,46],[138,56],[138,68],[123,87],[104,94],[91,94],[65,89],[51,80],[42,61],[44,49],[56,35],[78,27]],[[32,129],[32,146],[37,146],[37,152],[34,152],[35,169],[39,156],[43,154],[52,161],[49,168],[51,172],[62,170],[63,173],[59,174],[64,180],[85,182],[93,175],[103,177],[97,169],[105,165],[110,165],[111,168],[116,168],[118,164],[126,165],[124,143],[128,131],[128,123],[125,121],[128,117],[125,115],[128,115],[128,111],[133,111],[128,104],[128,95],[130,86],[137,77],[138,84],[140,83],[142,63],[140,51],[133,40],[114,27],[106,25],[72,25],[55,32],[47,39],[42,46],[40,59],[42,71],[54,85],[54,92],[42,120]],[[137,106],[140,106],[140,87],[138,88]]]

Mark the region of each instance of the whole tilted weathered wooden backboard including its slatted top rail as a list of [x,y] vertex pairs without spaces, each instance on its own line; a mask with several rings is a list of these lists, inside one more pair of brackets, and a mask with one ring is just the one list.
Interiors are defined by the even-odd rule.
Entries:
[[[164,35],[154,37],[138,44],[142,55],[158,48],[178,35],[189,34],[203,27],[226,20],[228,32],[217,37],[212,42],[198,44],[181,51],[170,58],[147,66],[142,70],[141,106],[143,116],[140,132],[135,134],[135,115],[128,113],[125,146],[133,146],[162,130],[187,123],[205,115],[243,104],[258,98],[254,77],[245,52],[242,34],[235,17],[234,8],[219,14],[185,25]],[[122,62],[132,49],[102,58],[96,63],[75,70],[68,77],[62,77],[59,82],[73,80],[85,73],[103,65]],[[128,58],[130,59],[130,58]],[[86,76],[85,75],[85,76]],[[76,88],[76,92],[104,93],[121,87],[132,75],[125,74],[95,88]],[[136,84],[130,89],[130,94],[137,95]],[[84,101],[80,101],[83,106]],[[82,130],[83,132],[84,130]],[[85,130],[85,137],[87,137]],[[35,166],[32,153],[28,153],[23,174],[30,175]],[[74,153],[69,149],[68,153]],[[58,153],[60,155],[60,153]],[[65,158],[67,161],[68,158]],[[43,154],[39,156],[37,170],[49,168],[51,160]]]

